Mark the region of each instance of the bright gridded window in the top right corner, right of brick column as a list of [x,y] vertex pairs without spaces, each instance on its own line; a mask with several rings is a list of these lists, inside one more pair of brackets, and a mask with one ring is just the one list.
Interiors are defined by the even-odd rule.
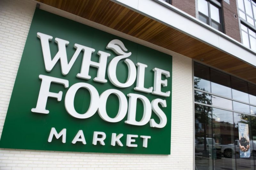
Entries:
[[240,18],[256,27],[256,3],[253,0],[238,0],[237,2]]

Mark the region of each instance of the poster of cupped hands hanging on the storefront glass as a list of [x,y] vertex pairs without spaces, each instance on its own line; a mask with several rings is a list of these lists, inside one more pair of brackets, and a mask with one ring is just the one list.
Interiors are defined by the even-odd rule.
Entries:
[[238,123],[240,158],[250,158],[250,138],[248,124]]

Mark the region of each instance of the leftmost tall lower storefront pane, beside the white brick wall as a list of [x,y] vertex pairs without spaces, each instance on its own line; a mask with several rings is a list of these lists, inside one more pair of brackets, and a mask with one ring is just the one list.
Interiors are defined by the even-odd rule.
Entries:
[[213,167],[215,141],[212,139],[211,122],[211,107],[195,104],[195,163],[198,170]]

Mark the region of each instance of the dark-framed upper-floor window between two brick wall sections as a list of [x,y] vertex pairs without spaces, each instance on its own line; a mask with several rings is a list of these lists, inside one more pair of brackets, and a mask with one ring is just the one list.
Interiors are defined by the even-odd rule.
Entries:
[[198,0],[199,20],[222,32],[220,7],[216,0]]

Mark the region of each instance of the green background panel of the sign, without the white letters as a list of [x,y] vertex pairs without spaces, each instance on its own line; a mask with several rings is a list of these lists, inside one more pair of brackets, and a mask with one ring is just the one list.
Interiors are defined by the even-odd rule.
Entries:
[[[107,83],[95,82],[93,81],[93,78],[97,76],[97,69],[94,67],[90,67],[89,75],[92,76],[90,80],[77,78],[76,74],[80,73],[83,52],[79,54],[75,64],[67,75],[61,74],[60,61],[57,62],[51,72],[47,72],[44,67],[41,42],[36,36],[37,32],[53,36],[53,40],[50,41],[52,58],[58,51],[58,46],[54,42],[54,38],[57,37],[68,40],[68,61],[75,53],[76,49],[73,46],[77,43],[94,48],[95,52],[92,53],[92,60],[96,62],[99,61],[99,56],[97,55],[99,50],[110,53],[111,56],[108,58],[109,63],[109,61],[117,55],[112,50],[106,49],[106,46],[111,40],[119,39],[124,43],[128,52],[132,52],[129,59],[131,59],[134,64],[140,62],[148,65],[145,70],[146,88],[154,85],[154,72],[152,69],[157,67],[171,73],[171,77],[167,78],[168,86],[162,87],[162,91],[172,91],[172,56],[67,18],[36,9],[12,91],[11,101],[0,140],[1,148],[75,152],[170,154],[171,96],[161,97],[151,93],[148,94],[134,91],[133,88],[136,86],[136,81],[131,87],[117,88],[111,84],[107,73],[105,77],[108,80]],[[36,107],[41,86],[41,80],[38,77],[39,74],[66,79],[69,81],[69,87],[78,82],[90,83],[98,90],[99,94],[107,89],[118,89],[125,95],[128,93],[137,93],[146,96],[150,102],[156,98],[164,99],[166,100],[167,107],[162,108],[160,106],[160,108],[166,114],[167,124],[164,128],[152,128],[149,123],[144,126],[125,124],[124,121],[127,120],[127,114],[122,121],[117,123],[109,123],[102,120],[98,113],[95,113],[92,117],[87,119],[72,117],[68,114],[64,106],[64,98],[68,88],[65,89],[63,85],[57,83],[51,83],[50,92],[58,93],[59,91],[63,91],[62,100],[58,102],[55,98],[48,98],[46,110],[50,111],[49,114],[31,112],[31,109]],[[128,69],[124,61],[118,63],[116,74],[120,82],[126,81]],[[162,79],[165,79],[165,77],[163,76]],[[88,90],[82,88],[77,91],[74,105],[78,113],[87,111],[90,105],[90,93]],[[108,115],[110,117],[115,117],[118,107],[118,98],[115,95],[110,95],[107,100]],[[143,105],[139,100],[136,112],[137,121],[142,118],[142,113]],[[153,111],[151,118],[154,118],[157,123],[160,121]],[[51,143],[47,141],[52,127],[55,127],[57,132],[60,132],[63,128],[67,129],[66,143],[62,143],[61,138],[56,139],[55,137],[53,137]],[[83,145],[82,142],[77,142],[76,144],[71,143],[79,130],[84,131],[86,145]],[[99,143],[98,145],[92,145],[94,131],[102,131],[106,133],[107,138],[104,140],[106,145],[100,145]],[[110,145],[112,133],[124,134],[120,139],[124,145],[123,147]],[[127,134],[139,135],[139,138],[136,138],[135,142],[135,144],[138,144],[138,147],[126,146]],[[148,139],[147,148],[142,147],[143,139],[140,138],[140,135],[151,136],[151,139]]]

